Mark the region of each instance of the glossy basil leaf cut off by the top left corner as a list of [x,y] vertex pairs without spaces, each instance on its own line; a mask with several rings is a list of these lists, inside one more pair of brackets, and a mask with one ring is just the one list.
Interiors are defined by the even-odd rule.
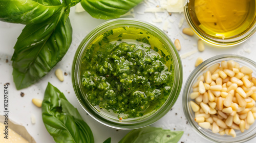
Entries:
[[11,23],[40,23],[58,13],[59,0],[4,0],[0,2],[0,20]]

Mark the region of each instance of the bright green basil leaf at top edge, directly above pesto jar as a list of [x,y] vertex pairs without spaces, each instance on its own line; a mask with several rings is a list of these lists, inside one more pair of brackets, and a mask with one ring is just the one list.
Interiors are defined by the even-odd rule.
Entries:
[[81,5],[92,17],[118,18],[143,0],[82,0]]

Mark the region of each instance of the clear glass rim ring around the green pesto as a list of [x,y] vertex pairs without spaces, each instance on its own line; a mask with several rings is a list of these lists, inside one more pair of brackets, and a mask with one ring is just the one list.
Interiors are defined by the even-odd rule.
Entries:
[[[115,25],[117,23],[120,23],[120,22],[122,22],[122,23],[126,22],[125,26],[129,25],[131,27],[132,27],[132,25],[131,25],[132,22],[134,22],[133,26],[135,26],[137,24],[136,28],[141,27],[141,29],[143,29],[143,27],[147,26],[147,28],[148,27],[150,28],[150,30],[151,30],[150,32],[153,32],[154,30],[157,31],[158,35],[154,35],[155,33],[153,35],[158,37],[158,38],[159,38],[159,36],[164,37],[164,38],[160,38],[160,40],[161,41],[162,40],[166,40],[166,41],[162,41],[162,42],[167,43],[168,45],[170,45],[170,46],[166,46],[166,49],[169,52],[170,56],[172,56],[172,59],[177,62],[176,64],[173,62],[174,72],[175,72],[174,78],[176,80],[176,83],[174,83],[174,85],[173,85],[173,87],[176,90],[173,89],[170,92],[170,95],[175,96],[173,98],[173,100],[170,101],[170,102],[165,102],[162,105],[162,107],[160,107],[155,113],[151,114],[151,115],[154,114],[154,116],[148,115],[149,117],[145,117],[147,119],[146,121],[141,120],[140,122],[137,122],[137,123],[134,123],[134,124],[124,124],[124,122],[119,122],[119,121],[111,122],[110,120],[108,120],[108,118],[103,118],[98,113],[95,114],[94,112],[92,112],[90,110],[90,108],[89,108],[90,105],[86,105],[86,104],[83,103],[85,100],[83,100],[81,98],[82,92],[81,92],[81,88],[80,88],[80,86],[78,84],[79,83],[79,75],[78,74],[79,74],[79,70],[80,70],[79,63],[81,61],[80,57],[85,52],[84,50],[87,49],[87,44],[91,43],[95,39],[95,37],[97,37],[99,35],[99,31],[102,31],[102,29],[103,29],[104,30],[103,32],[105,32],[106,30],[113,29],[113,25]],[[131,22],[131,23],[129,23],[129,22]],[[106,29],[105,27],[108,27],[109,29]],[[120,27],[120,26],[117,25],[115,28],[117,28],[117,27]],[[100,32],[100,34],[102,34],[103,32]],[[97,33],[98,33],[98,35],[97,35]],[[106,125],[106,126],[109,126],[109,127],[112,127],[112,128],[116,128],[116,129],[137,129],[137,128],[142,128],[142,127],[151,125],[151,124],[155,123],[156,121],[158,121],[176,103],[176,101],[177,101],[177,99],[179,97],[180,91],[181,91],[182,81],[183,81],[182,62],[181,62],[180,55],[179,55],[179,53],[178,53],[174,43],[170,40],[170,38],[162,30],[160,30],[156,26],[152,25],[151,23],[148,23],[148,22],[145,22],[145,21],[142,21],[142,20],[139,20],[139,19],[134,19],[134,18],[113,19],[113,20],[106,21],[106,22],[102,23],[101,25],[97,26],[95,29],[93,29],[82,40],[82,42],[78,46],[78,49],[77,49],[77,51],[75,53],[75,56],[74,56],[74,59],[73,59],[73,64],[72,64],[72,84],[73,84],[73,88],[74,88],[74,91],[76,93],[76,97],[77,97],[77,100],[78,100],[79,104],[96,121],[100,122],[103,125]],[[170,99],[169,97],[168,97],[168,100]],[[167,105],[167,103],[169,103],[169,104]],[[165,108],[163,108],[163,107],[165,107]],[[163,109],[166,109],[166,110],[163,110]]]

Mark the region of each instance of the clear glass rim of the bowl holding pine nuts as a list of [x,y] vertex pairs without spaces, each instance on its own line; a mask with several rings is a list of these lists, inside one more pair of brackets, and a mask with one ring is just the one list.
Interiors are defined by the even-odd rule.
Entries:
[[[204,132],[204,130],[199,130],[198,127],[195,126],[195,124],[197,124],[193,119],[191,119],[191,112],[189,111],[189,93],[191,92],[191,84],[193,84],[193,81],[200,75],[202,75],[202,73],[205,71],[205,70],[202,70],[200,72],[201,69],[207,69],[207,67],[209,67],[210,65],[213,65],[215,64],[214,61],[216,60],[225,60],[227,58],[234,58],[234,59],[239,59],[239,60],[242,60],[252,66],[254,66],[254,68],[256,68],[256,62],[252,61],[251,59],[248,59],[246,57],[243,57],[243,56],[239,56],[239,55],[236,55],[236,54],[222,54],[222,55],[217,55],[217,56],[214,56],[214,57],[211,57],[207,60],[205,60],[203,63],[201,63],[199,66],[197,66],[192,72],[191,74],[189,75],[189,77],[187,78],[186,82],[185,82],[185,86],[184,86],[184,89],[183,89],[183,94],[182,94],[182,104],[183,104],[183,112],[185,114],[185,117],[189,123],[189,125],[193,128],[193,130],[199,134],[200,136],[204,137],[205,139],[211,141],[211,142],[218,142],[218,143],[222,143],[222,142],[227,142],[227,141],[217,141],[215,140],[215,138],[210,138],[209,136],[207,136]],[[214,62],[214,63],[212,63]],[[218,62],[219,63],[219,62]],[[199,73],[200,72],[200,73]],[[194,111],[193,111],[194,112]],[[256,137],[256,127],[254,128],[253,130],[255,132],[255,134],[252,134],[251,136],[247,137],[246,139],[244,140],[232,140],[231,142],[235,143],[235,142],[245,142],[245,141],[248,141],[254,137]],[[212,133],[212,132],[211,132]],[[212,133],[212,134],[215,134],[215,133]],[[244,134],[245,135],[245,134]],[[221,136],[221,135],[220,135]],[[230,142],[230,143],[231,143]]]

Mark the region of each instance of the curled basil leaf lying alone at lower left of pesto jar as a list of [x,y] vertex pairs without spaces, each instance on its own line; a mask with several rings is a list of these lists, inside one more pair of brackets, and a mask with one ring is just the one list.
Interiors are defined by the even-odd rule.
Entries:
[[57,143],[94,142],[92,131],[78,110],[50,83],[42,102],[42,121]]

